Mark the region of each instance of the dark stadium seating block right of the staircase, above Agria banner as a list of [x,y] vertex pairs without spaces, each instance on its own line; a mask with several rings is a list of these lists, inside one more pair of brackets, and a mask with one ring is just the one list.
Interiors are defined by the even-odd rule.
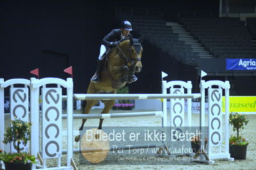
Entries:
[[256,46],[252,42],[256,24],[230,18],[182,18],[180,23],[191,32],[198,42],[215,58],[256,58]]

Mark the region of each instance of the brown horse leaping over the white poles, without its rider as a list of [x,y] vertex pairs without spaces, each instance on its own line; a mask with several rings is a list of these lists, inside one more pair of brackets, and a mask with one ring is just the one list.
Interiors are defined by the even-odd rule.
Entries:
[[[90,82],[87,93],[113,93],[115,94],[117,89],[123,88],[125,84],[132,83],[133,75],[135,72],[140,72],[141,65],[141,52],[143,38],[140,39],[125,38],[120,41],[120,44],[109,52],[109,56],[106,61],[106,66],[102,72],[100,72],[100,82]],[[97,100],[87,100],[86,107],[83,114],[88,114]],[[102,100],[104,103],[104,109],[102,114],[108,113],[111,107],[115,104],[115,100]],[[102,128],[102,122],[104,119],[100,119],[99,129]],[[83,119],[82,125],[79,130],[83,130],[86,119]],[[80,135],[76,136],[75,141],[78,142]]]

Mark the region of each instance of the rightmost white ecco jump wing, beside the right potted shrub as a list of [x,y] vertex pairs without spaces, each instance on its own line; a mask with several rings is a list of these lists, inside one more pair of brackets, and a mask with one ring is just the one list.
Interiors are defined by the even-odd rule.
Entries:
[[[215,86],[215,87],[214,87]],[[216,88],[217,87],[217,88]],[[200,127],[205,127],[205,89],[208,89],[209,100],[209,114],[208,114],[208,157],[209,159],[226,158],[233,161],[234,158],[230,158],[229,153],[229,107],[225,107],[225,141],[223,141],[223,127],[222,127],[222,94],[225,90],[225,106],[229,106],[229,89],[230,84],[228,81],[201,81],[200,93],[201,98],[201,111],[200,111]],[[204,146],[204,131],[202,133],[202,146]],[[225,144],[223,144],[225,143]],[[221,151],[221,147],[225,147],[224,151]],[[212,148],[218,148],[218,153],[213,153]]]

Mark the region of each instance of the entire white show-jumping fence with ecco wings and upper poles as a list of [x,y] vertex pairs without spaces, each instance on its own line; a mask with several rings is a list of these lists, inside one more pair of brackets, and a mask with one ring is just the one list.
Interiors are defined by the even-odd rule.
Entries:
[[[30,88],[30,112],[31,112],[31,122],[32,130],[31,130],[31,154],[38,155],[40,151],[42,152],[42,167],[41,169],[47,169],[46,161],[49,158],[58,158],[58,167],[54,167],[54,169],[73,169],[72,167],[72,158],[73,158],[73,128],[72,123],[74,118],[123,118],[123,117],[132,117],[132,116],[162,116],[163,123],[162,126],[167,126],[167,98],[170,98],[170,112],[171,119],[170,125],[172,127],[191,127],[191,99],[192,98],[201,98],[201,116],[200,116],[200,127],[205,126],[205,112],[204,112],[204,104],[205,104],[205,89],[209,88],[209,158],[227,158],[228,160],[232,160],[229,154],[228,148],[228,136],[229,136],[229,128],[228,128],[228,107],[225,110],[225,152],[221,153],[222,146],[222,131],[221,131],[221,114],[219,114],[220,108],[222,108],[221,100],[222,100],[222,91],[221,88],[225,89],[225,105],[228,105],[228,93],[229,93],[229,82],[222,81],[202,81],[200,84],[200,93],[191,93],[192,84],[190,81],[171,81],[166,82],[163,81],[162,86],[162,94],[127,94],[127,95],[117,95],[117,94],[73,94],[73,81],[68,78],[67,81],[58,78],[44,78],[44,79],[35,79],[31,78],[30,81],[26,79],[11,79],[5,81],[0,79],[0,141],[3,141],[4,134],[4,88],[11,86],[11,94],[16,94],[19,97],[19,104],[13,105],[11,110],[14,110],[14,113],[17,109],[16,107],[21,107],[24,111],[28,111],[27,107],[22,105],[22,101],[26,102],[24,99],[25,95],[28,97],[27,89],[16,89],[13,88],[12,84],[25,84],[25,88]],[[56,84],[56,88],[47,88],[47,84]],[[67,96],[63,97],[62,88],[67,89]],[[175,86],[179,86],[179,88],[175,88]],[[218,86],[217,89],[212,88],[212,86]],[[40,88],[42,89],[42,125],[40,125],[39,116],[39,96],[40,96]],[[168,89],[170,88],[170,93],[168,93]],[[15,92],[16,91],[16,92]],[[185,93],[186,91],[186,93]],[[22,95],[21,95],[22,94]],[[15,95],[13,95],[15,96]],[[16,97],[16,96],[15,96]],[[67,98],[67,114],[62,115],[61,112],[61,100],[62,98]],[[161,98],[163,99],[163,111],[159,112],[136,112],[136,113],[122,113],[122,114],[97,114],[97,115],[73,115],[73,98],[83,99],[83,100],[113,100],[113,99],[148,99],[148,98]],[[184,113],[184,100],[187,98],[188,100],[188,121],[185,123],[185,113]],[[221,99],[220,99],[221,98]],[[215,99],[215,100],[214,100]],[[220,100],[219,100],[220,99]],[[12,101],[13,100],[13,101]],[[17,98],[12,99],[11,102],[17,103]],[[217,101],[218,100],[218,101]],[[28,102],[26,102],[26,105]],[[21,106],[22,105],[22,106]],[[24,109],[25,108],[25,109]],[[217,109],[217,110],[216,110]],[[218,110],[219,109],[219,110]],[[218,114],[216,115],[216,111]],[[179,114],[178,114],[179,113]],[[11,113],[12,114],[12,113]],[[27,112],[26,112],[27,114]],[[25,116],[26,117],[26,116]],[[61,150],[61,119],[67,118],[67,166],[62,166],[60,164],[60,158],[62,157],[63,150]],[[178,118],[178,119],[177,119]],[[218,123],[218,124],[216,124]],[[179,124],[179,125],[178,125]],[[218,130],[216,130],[216,125],[218,126]],[[42,126],[42,148],[40,150],[39,147],[39,134],[40,134],[40,126]],[[51,129],[51,133],[48,133],[48,130]],[[203,130],[203,129],[202,129]],[[204,136],[202,136],[204,139]],[[204,146],[204,140],[202,143]],[[211,148],[214,146],[219,146],[218,153],[211,153]],[[0,144],[0,149],[5,150],[5,145],[3,143]],[[33,166],[35,169],[35,166]]]

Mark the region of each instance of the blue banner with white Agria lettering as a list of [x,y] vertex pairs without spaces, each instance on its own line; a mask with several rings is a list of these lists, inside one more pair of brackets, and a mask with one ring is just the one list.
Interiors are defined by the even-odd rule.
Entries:
[[256,70],[256,59],[227,58],[226,70]]

